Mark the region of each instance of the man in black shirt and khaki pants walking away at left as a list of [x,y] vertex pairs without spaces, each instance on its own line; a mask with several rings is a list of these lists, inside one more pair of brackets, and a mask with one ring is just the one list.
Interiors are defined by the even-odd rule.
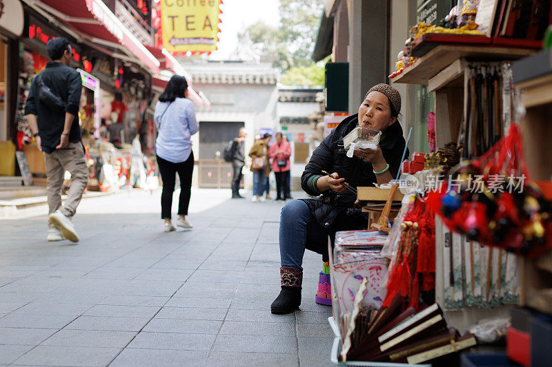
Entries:
[[[43,152],[46,165],[46,193],[50,214],[48,241],[67,238],[78,242],[79,237],[71,218],[75,215],[88,184],[88,168],[77,118],[81,101],[81,75],[69,67],[72,48],[67,39],[51,39],[46,48],[52,61],[32,81],[25,114],[37,146]],[[61,100],[59,102],[64,107],[52,103],[55,99]],[[71,174],[71,187],[65,204],[61,205],[61,186],[65,171]]]

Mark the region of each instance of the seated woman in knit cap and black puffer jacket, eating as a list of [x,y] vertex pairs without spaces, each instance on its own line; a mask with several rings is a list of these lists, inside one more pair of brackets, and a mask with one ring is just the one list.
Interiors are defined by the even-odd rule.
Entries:
[[[270,306],[272,313],[290,313],[301,304],[303,255],[305,249],[322,254],[328,261],[328,235],[332,243],[336,231],[366,229],[362,213],[348,213],[356,196],[342,185],[353,187],[383,184],[399,171],[404,137],[397,121],[401,96],[388,84],[371,87],[358,114],[345,118],[315,149],[301,177],[306,193],[316,199],[292,200],[282,209],[279,229],[280,277],[282,291]],[[355,150],[346,156],[343,138],[355,127],[382,130],[377,149]],[[333,172],[335,178],[322,171]]]

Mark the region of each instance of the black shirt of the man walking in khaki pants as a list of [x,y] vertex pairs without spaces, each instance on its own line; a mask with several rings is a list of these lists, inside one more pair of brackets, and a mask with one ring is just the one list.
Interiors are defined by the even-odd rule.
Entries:
[[[39,100],[39,80],[50,87],[65,103],[65,110],[51,109]],[[37,115],[37,125],[41,139],[42,151],[50,154],[59,145],[63,125],[65,125],[65,113],[75,115],[69,141],[78,143],[81,141],[81,129],[79,127],[79,104],[81,102],[82,81],[81,74],[72,67],[50,61],[40,74],[34,77],[26,101],[25,114]]]

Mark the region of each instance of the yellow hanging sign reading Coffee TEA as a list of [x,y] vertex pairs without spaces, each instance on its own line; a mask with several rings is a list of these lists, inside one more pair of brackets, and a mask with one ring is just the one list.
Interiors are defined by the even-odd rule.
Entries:
[[221,0],[161,0],[163,46],[169,52],[217,49]]

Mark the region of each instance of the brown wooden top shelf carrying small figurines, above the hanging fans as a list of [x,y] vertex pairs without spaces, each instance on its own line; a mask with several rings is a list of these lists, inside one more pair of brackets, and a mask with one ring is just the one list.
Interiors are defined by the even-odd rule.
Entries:
[[534,54],[534,49],[507,48],[492,45],[439,45],[417,59],[414,65],[391,79],[393,83],[424,84],[459,59],[468,61],[517,60]]

